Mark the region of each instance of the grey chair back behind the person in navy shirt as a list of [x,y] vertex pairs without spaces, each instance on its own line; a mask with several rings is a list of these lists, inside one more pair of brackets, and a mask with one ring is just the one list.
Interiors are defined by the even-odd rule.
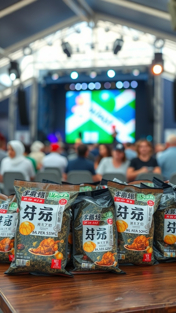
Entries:
[[71,184],[81,184],[83,182],[93,182],[90,171],[69,171],[67,173],[67,182]]

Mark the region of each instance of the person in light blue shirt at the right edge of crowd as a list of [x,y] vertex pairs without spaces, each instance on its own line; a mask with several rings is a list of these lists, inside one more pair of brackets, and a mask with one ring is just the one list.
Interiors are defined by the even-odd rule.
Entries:
[[170,135],[166,141],[167,149],[157,156],[157,161],[161,167],[164,179],[170,179],[176,172],[176,136]]

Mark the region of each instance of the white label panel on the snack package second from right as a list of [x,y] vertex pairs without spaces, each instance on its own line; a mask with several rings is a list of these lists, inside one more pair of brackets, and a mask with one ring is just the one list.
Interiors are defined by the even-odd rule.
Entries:
[[114,198],[116,221],[124,221],[125,233],[148,234],[152,224],[153,206],[122,203]]

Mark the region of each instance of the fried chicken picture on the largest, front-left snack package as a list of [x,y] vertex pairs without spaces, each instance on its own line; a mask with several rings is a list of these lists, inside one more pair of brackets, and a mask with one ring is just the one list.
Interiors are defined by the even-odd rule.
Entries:
[[41,241],[38,248],[31,248],[30,251],[35,254],[52,255],[57,251],[59,242],[63,243],[64,240],[54,241],[52,238],[47,238]]

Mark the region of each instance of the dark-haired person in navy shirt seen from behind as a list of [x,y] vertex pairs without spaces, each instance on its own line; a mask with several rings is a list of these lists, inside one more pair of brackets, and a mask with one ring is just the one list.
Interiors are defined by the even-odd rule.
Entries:
[[69,171],[81,170],[81,171],[90,171],[92,173],[93,181],[94,182],[98,181],[98,177],[94,169],[94,163],[91,160],[87,159],[87,155],[89,153],[88,146],[85,144],[80,144],[77,147],[77,151],[78,151],[77,158],[74,160],[70,160],[68,162],[68,165],[64,174],[65,180],[67,180],[67,173]]

